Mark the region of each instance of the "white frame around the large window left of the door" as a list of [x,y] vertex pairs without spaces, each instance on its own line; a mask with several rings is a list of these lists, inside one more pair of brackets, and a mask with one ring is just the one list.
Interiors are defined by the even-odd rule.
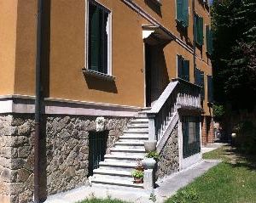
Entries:
[[[89,8],[90,3],[96,3],[98,6],[105,8],[108,10],[108,21],[107,21],[107,33],[108,33],[108,73],[104,74],[102,72],[98,72],[95,70],[89,69]],[[84,67],[85,70],[95,72],[96,74],[106,75],[106,76],[113,76],[112,72],[112,10],[107,8],[106,6],[102,5],[96,0],[86,0],[86,8],[85,8],[85,53],[84,53]]]

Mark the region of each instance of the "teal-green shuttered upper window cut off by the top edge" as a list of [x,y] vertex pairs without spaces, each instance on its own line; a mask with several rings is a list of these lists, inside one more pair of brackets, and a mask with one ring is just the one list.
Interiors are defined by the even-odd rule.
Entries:
[[189,26],[189,2],[188,0],[176,0],[176,19],[180,25]]

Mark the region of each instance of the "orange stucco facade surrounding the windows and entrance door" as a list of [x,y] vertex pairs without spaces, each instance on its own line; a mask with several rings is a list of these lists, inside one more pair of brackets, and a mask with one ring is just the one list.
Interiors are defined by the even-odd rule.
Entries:
[[[0,0],[0,3],[6,2]],[[18,2],[17,24],[13,33],[17,38],[13,43],[16,57],[8,59],[15,74],[13,91],[17,94],[34,95],[35,59],[36,59],[36,11],[37,2],[34,0]],[[48,5],[48,29],[44,33],[44,84],[46,96],[57,99],[73,99],[108,104],[125,104],[144,106],[144,53],[142,25],[150,25],[146,19],[119,0],[98,0],[112,12],[112,72],[114,82],[85,76],[82,69],[85,65],[85,0],[46,0]],[[147,1],[136,0],[141,8],[150,14],[161,25],[181,39],[190,49],[193,42],[192,1],[189,1],[188,37],[177,31],[176,1],[162,0],[160,11],[148,5]],[[1,7],[2,8],[2,7]],[[0,12],[3,12],[3,9]],[[204,17],[204,23],[209,24],[208,11],[195,0],[195,11]],[[0,13],[1,14],[1,13]],[[14,18],[14,17],[13,17]],[[0,18],[0,25],[3,19]],[[205,32],[205,31],[204,31]],[[205,33],[204,33],[205,34]],[[3,31],[0,31],[3,36]],[[3,36],[4,37],[4,36]],[[9,36],[10,37],[10,36]],[[206,38],[206,37],[205,37]],[[1,38],[0,38],[1,39]],[[11,43],[10,43],[11,44]],[[9,45],[10,46],[10,45]],[[45,51],[46,50],[46,51]],[[0,52],[3,52],[0,49]],[[170,79],[177,76],[177,54],[189,59],[190,81],[194,82],[193,54],[179,45],[170,42],[163,49],[166,69]],[[211,62],[206,54],[206,42],[200,51],[196,49],[196,64],[206,74],[212,75]],[[8,57],[11,55],[8,54]],[[3,59],[0,59],[3,63]],[[15,72],[14,72],[15,66]],[[11,69],[9,69],[11,70]],[[2,75],[2,74],[1,74]],[[1,76],[0,76],[1,77]],[[3,77],[3,76],[2,76]],[[9,83],[11,80],[9,80]],[[14,84],[14,80],[12,81]],[[205,82],[207,84],[207,81]],[[7,84],[6,84],[7,85]],[[7,87],[0,87],[0,93]],[[206,97],[207,98],[207,97]],[[205,102],[207,105],[207,101]],[[206,110],[205,110],[206,111]]]

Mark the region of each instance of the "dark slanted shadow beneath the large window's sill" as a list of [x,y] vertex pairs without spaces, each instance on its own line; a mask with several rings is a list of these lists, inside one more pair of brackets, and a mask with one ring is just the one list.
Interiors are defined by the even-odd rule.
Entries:
[[102,78],[86,74],[84,74],[84,79],[89,89],[96,89],[108,93],[118,93],[116,84],[112,80],[102,80]]

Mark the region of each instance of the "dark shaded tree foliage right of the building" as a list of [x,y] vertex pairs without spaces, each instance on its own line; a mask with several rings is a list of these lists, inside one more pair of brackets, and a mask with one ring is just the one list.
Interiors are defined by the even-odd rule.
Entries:
[[236,109],[256,104],[256,1],[215,0],[212,4],[215,99]]

